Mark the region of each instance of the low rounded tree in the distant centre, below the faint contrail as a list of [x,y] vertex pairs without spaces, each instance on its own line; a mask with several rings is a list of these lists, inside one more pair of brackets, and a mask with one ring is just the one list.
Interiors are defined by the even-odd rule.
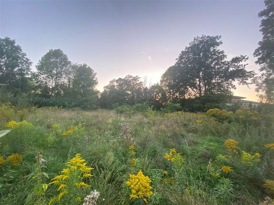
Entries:
[[112,108],[114,104],[134,105],[140,102],[143,102],[143,83],[140,77],[131,75],[109,82],[100,97],[100,104],[105,108]]

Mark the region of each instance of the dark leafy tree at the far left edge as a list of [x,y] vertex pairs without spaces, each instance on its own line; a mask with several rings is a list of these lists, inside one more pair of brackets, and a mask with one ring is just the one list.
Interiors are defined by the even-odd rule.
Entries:
[[14,94],[27,92],[31,63],[15,40],[0,38],[0,84]]

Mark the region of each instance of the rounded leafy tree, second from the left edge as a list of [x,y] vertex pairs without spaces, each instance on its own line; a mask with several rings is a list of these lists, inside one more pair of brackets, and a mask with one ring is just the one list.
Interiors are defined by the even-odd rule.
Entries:
[[61,49],[50,49],[36,65],[41,82],[49,88],[50,96],[62,96],[68,87],[71,62]]

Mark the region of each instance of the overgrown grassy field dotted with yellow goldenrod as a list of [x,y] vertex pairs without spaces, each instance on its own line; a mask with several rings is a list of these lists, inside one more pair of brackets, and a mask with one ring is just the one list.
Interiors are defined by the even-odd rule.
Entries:
[[273,121],[1,105],[0,204],[268,204]]

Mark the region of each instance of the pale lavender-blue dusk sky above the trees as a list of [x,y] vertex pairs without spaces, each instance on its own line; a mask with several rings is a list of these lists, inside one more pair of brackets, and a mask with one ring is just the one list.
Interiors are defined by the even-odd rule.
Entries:
[[[174,65],[196,36],[222,35],[228,57],[249,57],[262,36],[258,13],[263,1],[2,1],[0,37],[15,39],[33,62],[61,48],[75,63],[97,73],[97,89],[126,75],[151,84]],[[254,86],[237,86],[235,95],[257,101]]]

